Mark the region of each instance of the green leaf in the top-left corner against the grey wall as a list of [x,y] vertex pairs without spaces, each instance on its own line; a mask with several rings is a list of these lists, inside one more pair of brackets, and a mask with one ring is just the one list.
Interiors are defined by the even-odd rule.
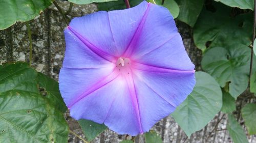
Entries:
[[1,0],[0,30],[10,27],[16,21],[29,21],[51,5],[51,0]]

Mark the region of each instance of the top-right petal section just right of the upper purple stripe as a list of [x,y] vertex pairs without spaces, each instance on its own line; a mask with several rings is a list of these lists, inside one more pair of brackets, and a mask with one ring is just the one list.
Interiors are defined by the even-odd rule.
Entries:
[[144,24],[138,27],[125,56],[137,56],[151,51],[174,37],[178,33],[173,16],[169,10],[154,4],[148,4]]

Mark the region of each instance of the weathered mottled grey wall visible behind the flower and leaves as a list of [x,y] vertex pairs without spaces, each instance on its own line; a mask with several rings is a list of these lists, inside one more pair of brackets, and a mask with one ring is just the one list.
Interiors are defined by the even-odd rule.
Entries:
[[[57,3],[65,10],[68,10],[69,3],[65,1],[57,1]],[[72,12],[68,15],[81,16],[84,14],[97,11],[94,4],[91,5],[74,5]],[[58,79],[58,73],[63,61],[65,52],[65,40],[63,30],[66,23],[62,16],[57,12],[56,8],[51,6],[50,9],[41,13],[34,20],[29,22],[32,31],[33,41],[33,62],[32,66],[39,72],[43,72],[54,79]],[[191,60],[196,65],[196,69],[200,70],[201,51],[198,50],[191,38],[191,28],[186,24],[177,22],[179,32],[182,35],[184,45]],[[29,61],[29,42],[27,27],[24,23],[17,23],[7,30],[0,31],[0,64],[9,61]],[[248,102],[240,99],[238,108],[242,104]],[[70,129],[81,137],[84,137],[78,123],[66,113],[66,119]],[[222,120],[220,120],[222,119]],[[244,122],[239,118],[241,125]],[[217,125],[217,122],[219,124]],[[163,139],[163,142],[232,142],[228,131],[226,130],[227,116],[219,113],[212,119],[204,129],[197,131],[188,138],[172,117],[167,117],[158,122],[154,127]],[[245,128],[244,128],[245,129]],[[246,129],[245,129],[246,130]],[[256,136],[247,136],[250,142],[256,142]],[[100,134],[92,142],[120,142],[123,139],[131,139],[131,136],[118,135],[111,130],[106,130]],[[144,142],[143,135],[135,138],[136,142]],[[69,142],[82,142],[73,134],[69,135]]]

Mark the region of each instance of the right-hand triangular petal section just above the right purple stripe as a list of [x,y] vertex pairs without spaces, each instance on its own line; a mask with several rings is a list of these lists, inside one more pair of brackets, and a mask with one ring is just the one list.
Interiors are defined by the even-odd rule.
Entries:
[[134,60],[145,65],[176,70],[194,70],[195,68],[178,33],[160,47],[137,53]]

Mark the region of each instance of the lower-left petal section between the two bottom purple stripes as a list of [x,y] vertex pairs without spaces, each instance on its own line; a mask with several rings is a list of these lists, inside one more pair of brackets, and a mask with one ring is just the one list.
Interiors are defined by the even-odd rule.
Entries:
[[140,133],[133,101],[121,76],[78,101],[70,108],[70,113],[76,120],[104,123],[120,134]]

